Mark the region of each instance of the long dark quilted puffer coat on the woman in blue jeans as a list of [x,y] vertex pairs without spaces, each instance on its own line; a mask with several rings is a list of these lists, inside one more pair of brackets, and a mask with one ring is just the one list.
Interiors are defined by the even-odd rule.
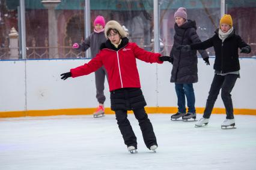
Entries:
[[[177,50],[178,45],[188,45],[195,42],[201,42],[197,35],[195,21],[187,20],[186,23],[177,26],[174,25],[174,45],[172,47],[170,57],[172,57],[172,71],[171,82],[172,83],[197,83],[197,50]],[[209,57],[205,50],[199,50],[203,58]]]

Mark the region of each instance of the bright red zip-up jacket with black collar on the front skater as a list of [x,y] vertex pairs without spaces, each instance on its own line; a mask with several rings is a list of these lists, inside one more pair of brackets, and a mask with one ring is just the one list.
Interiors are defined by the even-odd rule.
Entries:
[[109,78],[109,90],[126,87],[141,87],[136,58],[149,63],[163,63],[159,53],[151,53],[139,48],[128,38],[123,38],[118,48],[109,40],[102,44],[100,52],[90,62],[77,68],[70,69],[72,77],[79,77],[96,71],[105,66]]

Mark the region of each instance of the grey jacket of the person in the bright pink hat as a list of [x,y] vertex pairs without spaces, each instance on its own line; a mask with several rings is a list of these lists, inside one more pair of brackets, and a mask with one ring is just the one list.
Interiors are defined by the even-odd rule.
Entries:
[[100,45],[104,42],[106,42],[104,31],[100,33],[93,32],[82,44],[79,44],[79,47],[82,51],[91,47],[91,57],[94,58],[100,51]]

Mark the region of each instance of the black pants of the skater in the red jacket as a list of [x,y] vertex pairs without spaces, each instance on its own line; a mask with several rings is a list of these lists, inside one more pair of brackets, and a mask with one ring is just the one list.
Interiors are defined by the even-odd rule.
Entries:
[[[153,126],[148,119],[148,115],[145,112],[145,109],[140,108],[137,110],[133,110],[133,113],[139,122],[142,136],[147,148],[150,148],[151,145],[157,145]],[[137,148],[137,138],[132,130],[132,126],[130,126],[129,120],[127,119],[127,110],[116,110],[115,117],[117,119],[117,124],[121,131],[121,134],[123,135],[124,144],[126,144],[127,147],[132,145]]]

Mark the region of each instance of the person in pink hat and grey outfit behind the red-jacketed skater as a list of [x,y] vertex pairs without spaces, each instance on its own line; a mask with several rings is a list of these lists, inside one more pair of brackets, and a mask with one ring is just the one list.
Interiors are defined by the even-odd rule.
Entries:
[[[91,58],[96,57],[96,54],[100,51],[100,44],[106,42],[106,37],[104,34],[105,31],[105,19],[103,16],[97,16],[94,20],[94,31],[91,33],[89,37],[85,39],[82,44],[75,43],[73,44],[73,48],[78,50],[86,51],[88,48],[91,48]],[[96,98],[99,102],[99,107],[96,112],[94,112],[93,117],[102,117],[104,116],[104,102],[106,97],[104,95],[104,82],[105,76],[108,78],[108,74],[106,74],[106,69],[104,66],[99,68],[95,72],[95,81],[96,81]]]

